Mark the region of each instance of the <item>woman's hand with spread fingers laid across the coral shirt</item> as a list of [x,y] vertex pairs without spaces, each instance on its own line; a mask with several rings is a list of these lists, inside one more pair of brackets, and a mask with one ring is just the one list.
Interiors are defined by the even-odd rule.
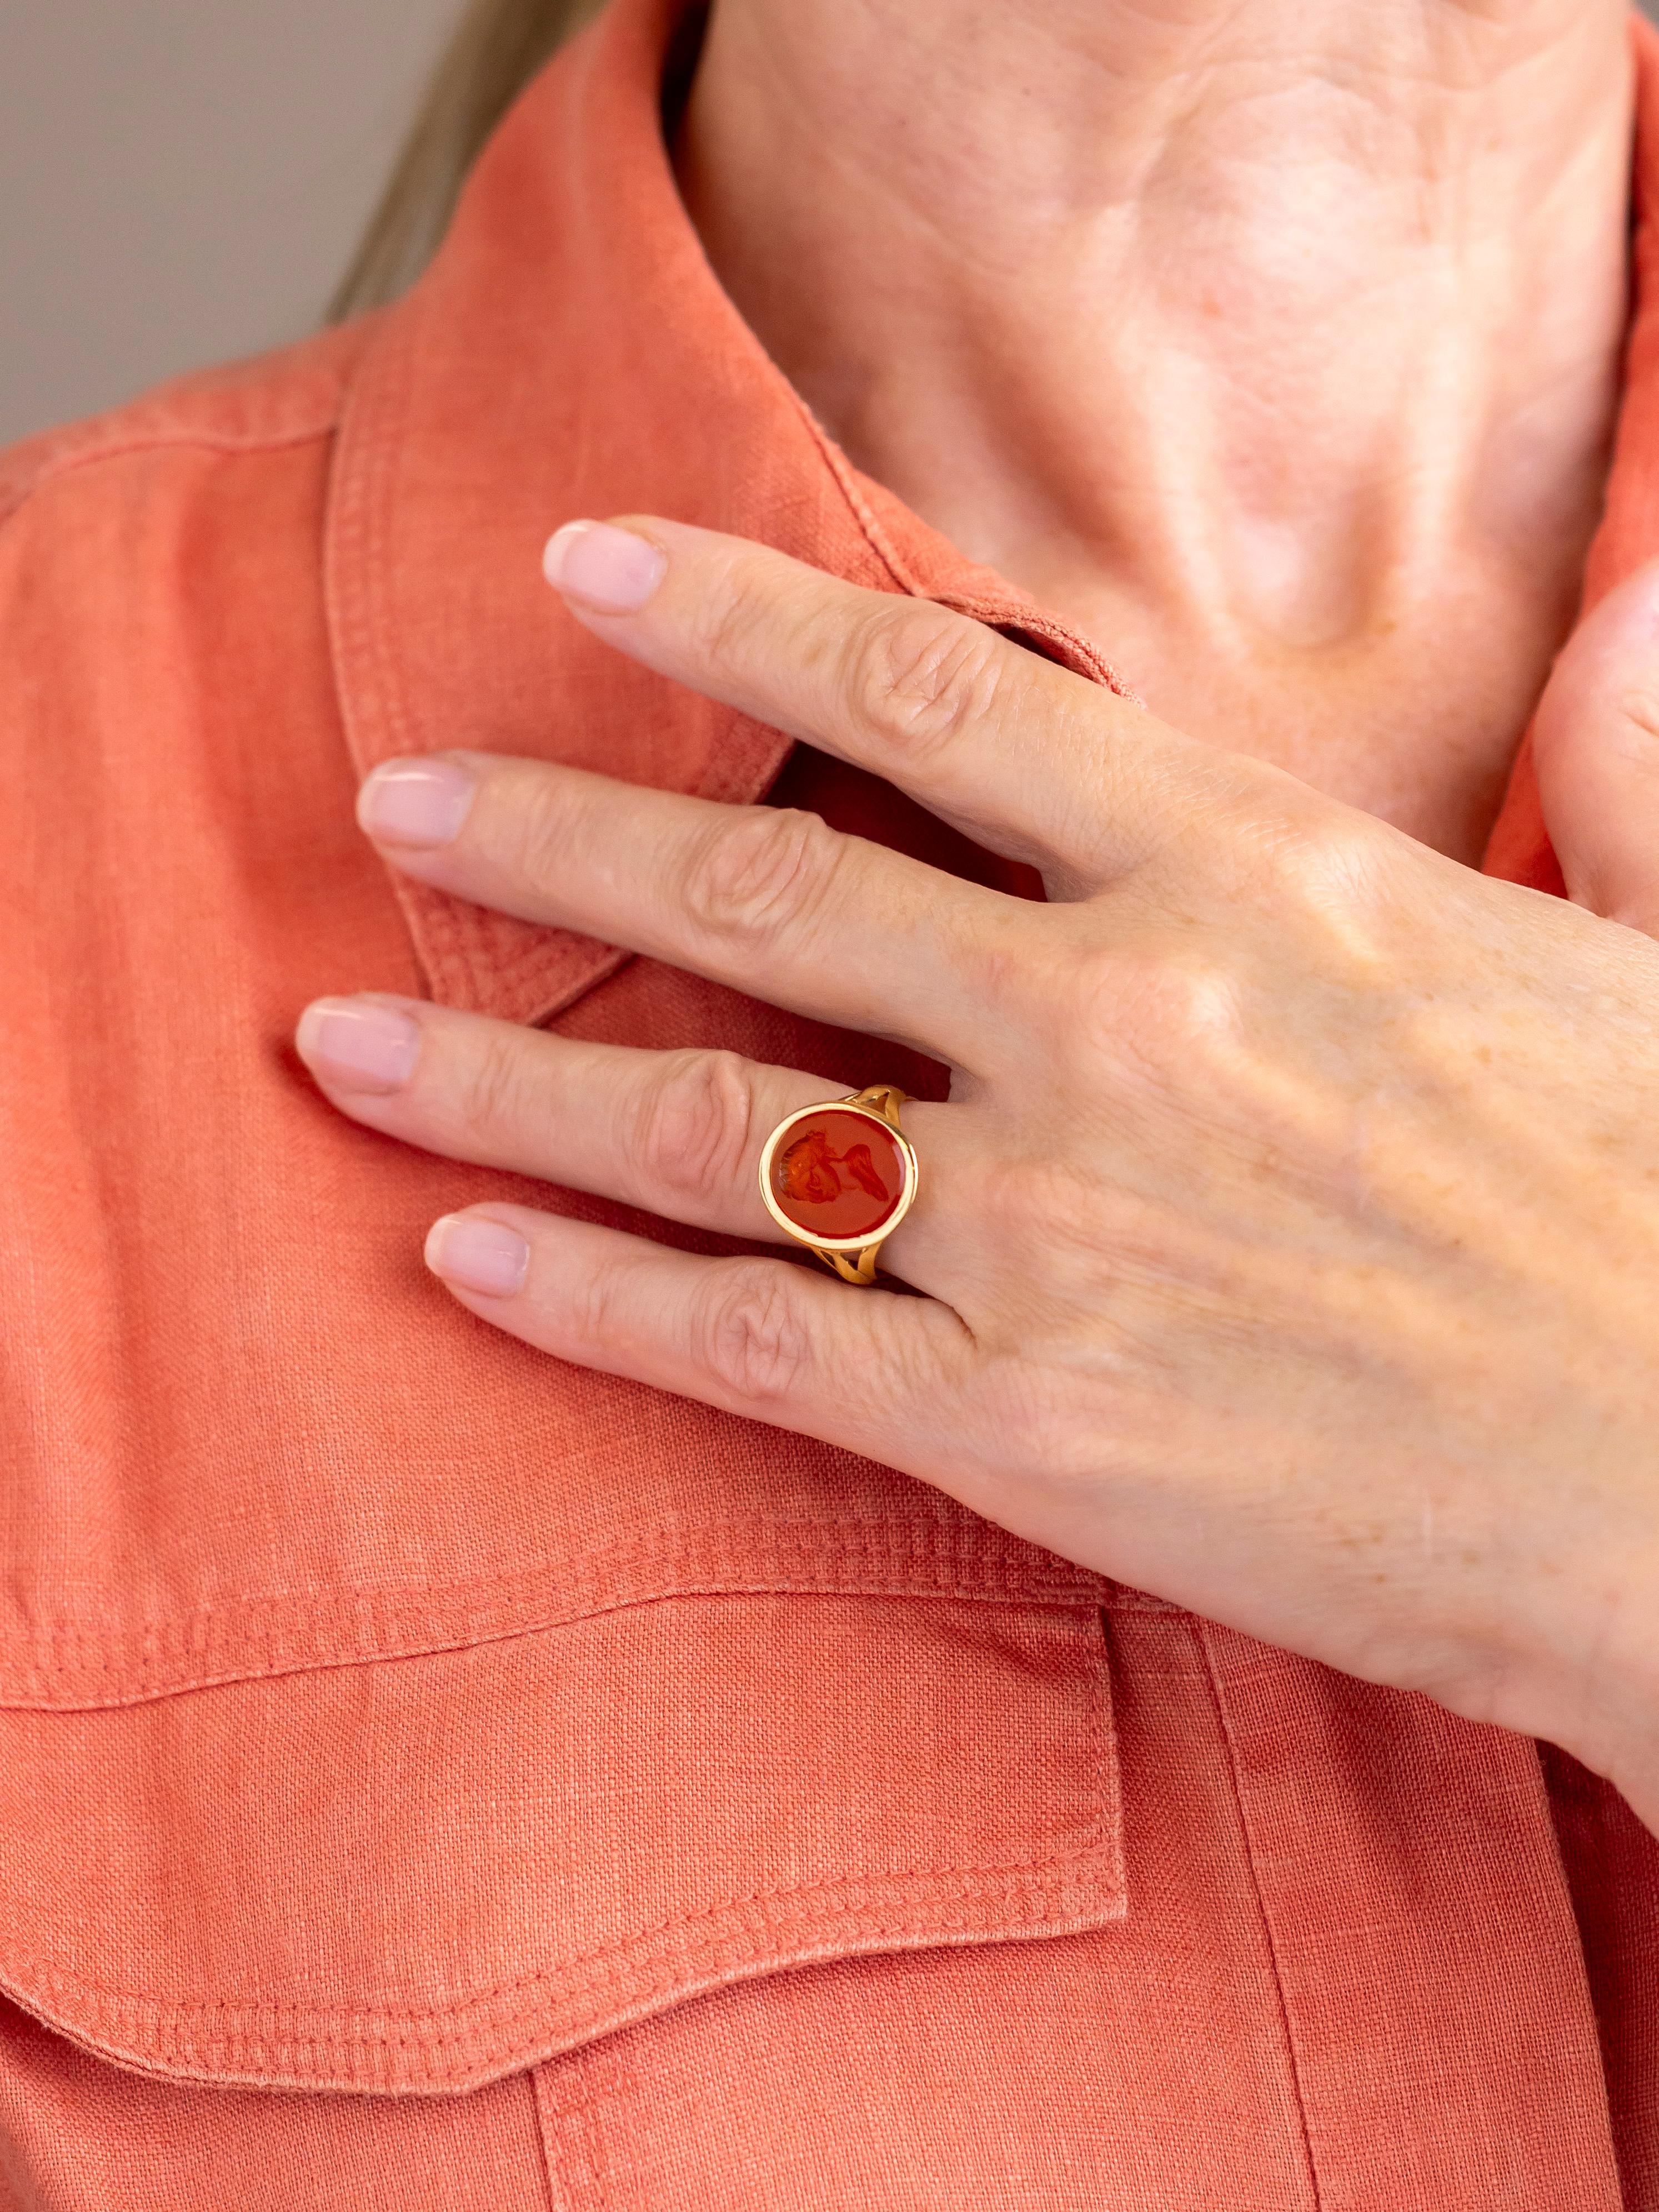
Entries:
[[[422,883],[953,1068],[907,1108],[925,1175],[883,1254],[925,1296],[518,1206],[438,1223],[434,1270],[557,1358],[1546,1736],[1659,1829],[1659,947],[1624,927],[1659,927],[1659,571],[1540,717],[1606,920],[927,602],[626,529],[549,549],[591,630],[1033,860],[1051,902],[816,816],[389,763],[361,818]],[[759,1146],[827,1093],[405,1000],[321,1000],[299,1044],[378,1130],[757,1243]]]

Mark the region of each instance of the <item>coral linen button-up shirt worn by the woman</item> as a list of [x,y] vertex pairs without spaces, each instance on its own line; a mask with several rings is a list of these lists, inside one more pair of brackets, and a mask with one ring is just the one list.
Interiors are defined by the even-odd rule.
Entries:
[[[597,646],[538,573],[571,515],[1113,681],[741,325],[672,46],[617,0],[403,305],[0,462],[0,2201],[1659,2208],[1659,1851],[1610,1790],[538,1358],[429,1283],[427,1223],[648,1223],[356,1128],[290,1057],[307,998],[383,989],[905,1073],[389,876],[352,821],[389,754],[783,770],[1020,887]],[[1637,263],[1593,593],[1659,551],[1646,228]],[[1491,865],[1551,880],[1524,761]]]

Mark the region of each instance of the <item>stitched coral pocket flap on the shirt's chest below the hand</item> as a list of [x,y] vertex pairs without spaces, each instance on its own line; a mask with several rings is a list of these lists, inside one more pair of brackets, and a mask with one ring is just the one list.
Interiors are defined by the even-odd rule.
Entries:
[[748,1975],[1124,1911],[1084,1604],[668,1597],[0,1747],[0,1984],[199,2081],[465,2090]]

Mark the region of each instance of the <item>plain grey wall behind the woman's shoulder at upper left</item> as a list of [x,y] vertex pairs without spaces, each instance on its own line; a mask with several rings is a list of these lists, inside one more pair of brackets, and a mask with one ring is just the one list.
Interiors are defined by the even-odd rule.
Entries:
[[0,0],[0,445],[314,323],[458,11]]

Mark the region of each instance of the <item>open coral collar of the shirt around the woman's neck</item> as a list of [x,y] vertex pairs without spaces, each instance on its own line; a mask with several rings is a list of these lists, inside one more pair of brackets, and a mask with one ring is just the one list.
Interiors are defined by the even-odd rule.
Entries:
[[[863,478],[741,321],[675,188],[661,88],[686,0],[613,0],[487,146],[431,270],[380,316],[341,422],[327,597],[347,741],[476,745],[748,801],[787,741],[568,622],[573,515],[648,511],[958,606],[1115,690],[1099,653]],[[1659,551],[1659,38],[1637,27],[1637,312],[1595,599]],[[1531,774],[1486,867],[1559,889]],[[394,874],[438,1000],[535,1022],[626,953]]]

